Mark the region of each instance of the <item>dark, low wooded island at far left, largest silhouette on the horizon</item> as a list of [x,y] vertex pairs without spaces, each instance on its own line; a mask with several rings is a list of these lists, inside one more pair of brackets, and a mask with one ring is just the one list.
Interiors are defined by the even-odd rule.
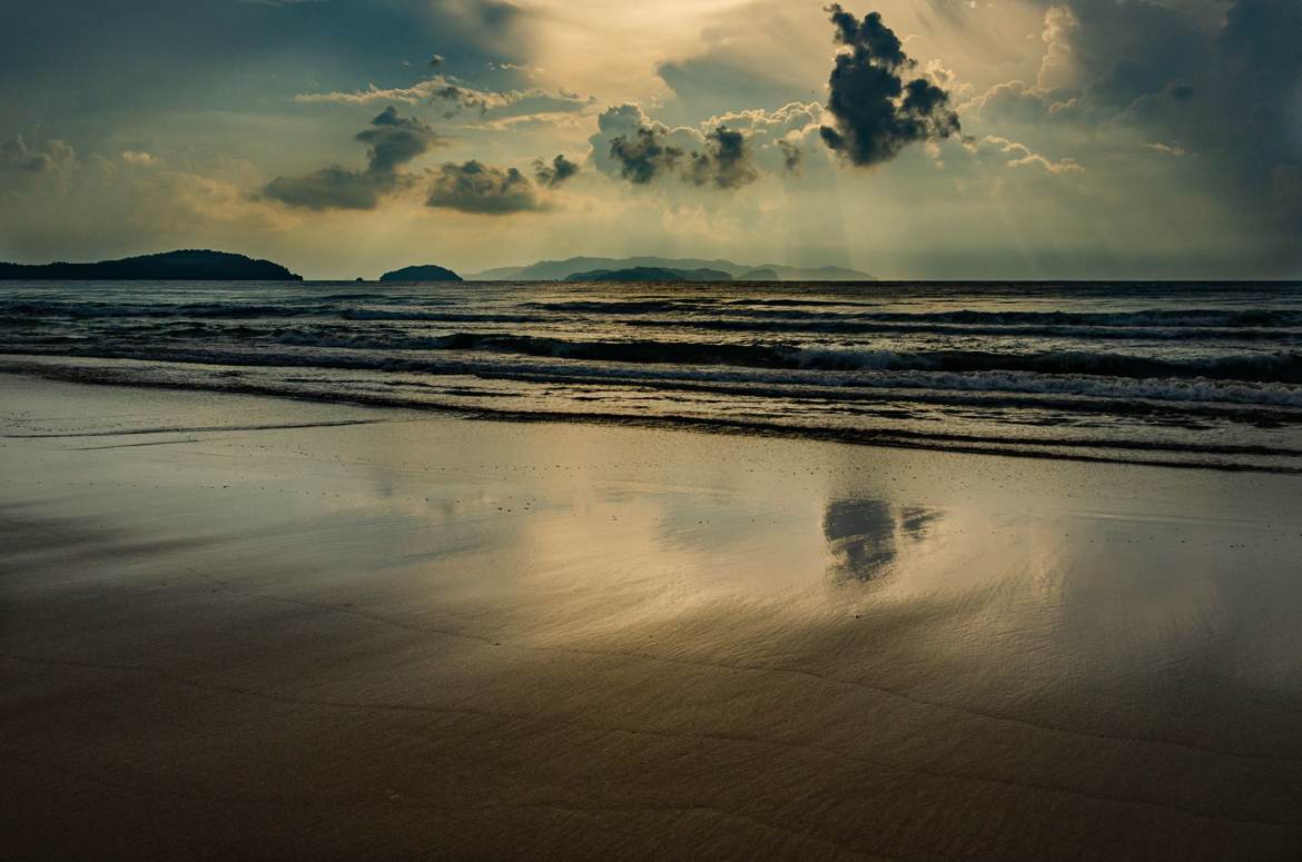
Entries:
[[271,260],[186,249],[99,263],[0,263],[0,279],[73,281],[302,281]]

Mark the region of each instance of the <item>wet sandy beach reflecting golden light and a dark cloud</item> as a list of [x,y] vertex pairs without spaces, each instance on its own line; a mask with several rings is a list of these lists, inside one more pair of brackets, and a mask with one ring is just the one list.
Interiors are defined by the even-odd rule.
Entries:
[[9,858],[1302,855],[1302,478],[0,378]]

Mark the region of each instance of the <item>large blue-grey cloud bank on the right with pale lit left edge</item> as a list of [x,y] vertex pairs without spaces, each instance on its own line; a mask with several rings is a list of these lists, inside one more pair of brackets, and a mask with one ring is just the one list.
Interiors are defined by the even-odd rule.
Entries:
[[[1279,195],[1276,177],[1302,164],[1302,4],[1232,0],[1221,14],[1189,3],[1059,0],[1043,21],[1035,83],[990,87],[963,105],[965,122],[1075,142],[1092,150],[1091,163],[1111,159],[1117,176],[1130,176],[1141,154],[1172,156],[1185,171],[1174,182],[1250,214],[1254,240],[1295,267],[1302,202]],[[1198,159],[1177,158],[1186,152]]]

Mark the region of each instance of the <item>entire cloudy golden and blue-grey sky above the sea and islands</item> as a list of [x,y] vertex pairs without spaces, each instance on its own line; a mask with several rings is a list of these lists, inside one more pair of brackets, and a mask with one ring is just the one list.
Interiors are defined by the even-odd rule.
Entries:
[[0,0],[0,259],[1302,279],[1302,0]]

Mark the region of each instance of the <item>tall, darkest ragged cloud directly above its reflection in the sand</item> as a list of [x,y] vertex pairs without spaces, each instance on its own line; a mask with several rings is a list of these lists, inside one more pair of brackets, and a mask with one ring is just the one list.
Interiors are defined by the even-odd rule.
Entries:
[[833,4],[836,40],[850,48],[836,56],[827,109],[833,125],[819,133],[846,161],[867,167],[889,161],[905,146],[960,134],[949,94],[926,78],[905,81],[914,61],[876,12],[862,22]]

